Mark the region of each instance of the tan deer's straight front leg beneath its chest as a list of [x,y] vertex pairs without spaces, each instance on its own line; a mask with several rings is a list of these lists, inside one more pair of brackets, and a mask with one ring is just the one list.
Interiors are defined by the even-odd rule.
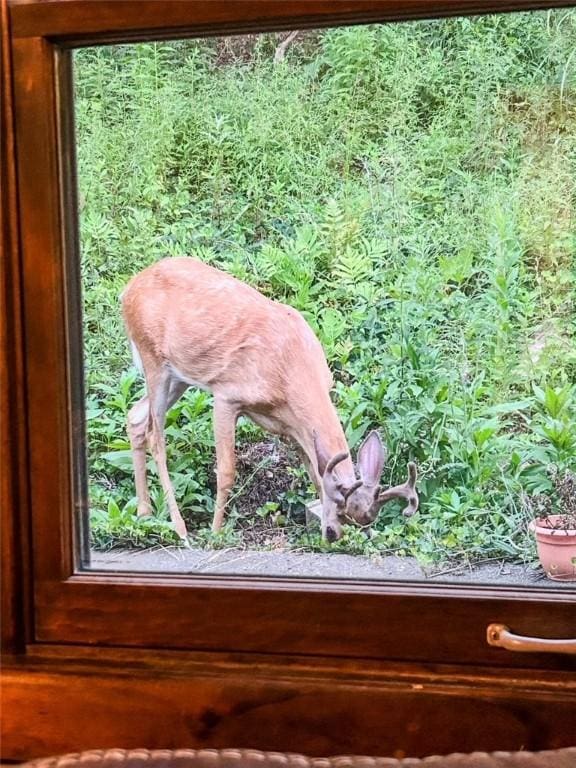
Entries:
[[212,530],[222,527],[228,496],[236,476],[236,420],[238,411],[225,400],[214,398],[214,440],[216,443],[216,508]]

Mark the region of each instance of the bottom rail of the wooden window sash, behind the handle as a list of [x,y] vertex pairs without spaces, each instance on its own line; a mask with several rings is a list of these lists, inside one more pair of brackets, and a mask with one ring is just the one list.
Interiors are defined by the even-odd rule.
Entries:
[[482,595],[479,590],[445,589],[439,595],[419,587],[85,574],[64,583],[39,584],[36,638],[45,643],[576,669],[575,657],[514,654],[486,642],[486,627],[495,617],[523,634],[570,637],[573,598],[556,594],[542,603],[519,595],[498,599],[497,592],[488,590]]

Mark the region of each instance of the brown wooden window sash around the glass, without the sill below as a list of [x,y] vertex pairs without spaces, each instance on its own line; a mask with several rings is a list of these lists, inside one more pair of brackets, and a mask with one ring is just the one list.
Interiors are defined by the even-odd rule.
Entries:
[[82,389],[82,356],[70,66],[71,49],[84,45],[573,5],[9,2],[18,188],[12,215],[18,222],[8,249],[15,303],[7,322],[16,360],[8,366],[7,409],[17,450],[8,468],[14,530],[5,546],[12,541],[19,551],[15,567],[30,566],[30,588],[17,611],[29,644],[576,668],[568,656],[513,654],[486,642],[492,621],[525,635],[573,635],[574,590],[81,570],[75,478],[85,433],[83,409],[73,407]]

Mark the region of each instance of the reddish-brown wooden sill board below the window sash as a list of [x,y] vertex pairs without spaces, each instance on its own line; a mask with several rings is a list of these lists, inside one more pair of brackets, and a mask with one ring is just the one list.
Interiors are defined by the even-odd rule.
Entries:
[[93,655],[5,667],[6,758],[142,746],[424,756],[559,748],[576,732],[568,676]]

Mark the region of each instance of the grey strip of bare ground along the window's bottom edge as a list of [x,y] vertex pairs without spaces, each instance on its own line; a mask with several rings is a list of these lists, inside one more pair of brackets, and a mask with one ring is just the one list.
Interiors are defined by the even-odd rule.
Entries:
[[356,555],[255,552],[238,549],[201,550],[163,547],[150,550],[93,552],[91,568],[104,571],[160,572],[197,575],[328,578],[339,581],[426,581],[455,584],[490,584],[574,588],[574,582],[550,581],[540,569],[501,562],[475,566],[453,563],[423,569],[412,557],[394,555],[369,559]]

